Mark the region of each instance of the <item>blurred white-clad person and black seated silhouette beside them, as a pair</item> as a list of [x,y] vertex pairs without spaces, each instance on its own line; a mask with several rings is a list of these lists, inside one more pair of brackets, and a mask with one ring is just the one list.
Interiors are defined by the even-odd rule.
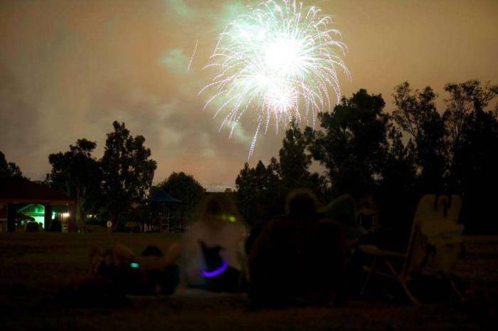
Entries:
[[182,238],[182,278],[207,290],[247,290],[259,307],[341,303],[349,250],[340,224],[318,207],[312,191],[292,191],[285,214],[245,238],[235,207],[208,198]]

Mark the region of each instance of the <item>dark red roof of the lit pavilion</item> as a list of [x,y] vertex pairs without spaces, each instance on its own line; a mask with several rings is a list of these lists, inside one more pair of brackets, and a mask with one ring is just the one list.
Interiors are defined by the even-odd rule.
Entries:
[[65,194],[28,179],[0,179],[0,203],[3,204],[75,204]]

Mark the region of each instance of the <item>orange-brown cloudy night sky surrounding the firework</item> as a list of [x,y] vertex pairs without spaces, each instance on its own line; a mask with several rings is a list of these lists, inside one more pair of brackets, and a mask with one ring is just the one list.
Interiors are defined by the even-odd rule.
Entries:
[[[31,179],[49,172],[48,154],[81,137],[102,156],[112,121],[144,135],[158,168],[231,186],[248,155],[255,118],[228,140],[221,118],[202,112],[201,70],[218,33],[248,1],[0,1],[0,150]],[[342,93],[391,93],[408,80],[431,85],[443,110],[448,82],[498,83],[496,0],[304,1],[337,21],[349,47]],[[189,58],[198,39],[190,72]],[[283,133],[258,139],[250,164],[277,156]]]

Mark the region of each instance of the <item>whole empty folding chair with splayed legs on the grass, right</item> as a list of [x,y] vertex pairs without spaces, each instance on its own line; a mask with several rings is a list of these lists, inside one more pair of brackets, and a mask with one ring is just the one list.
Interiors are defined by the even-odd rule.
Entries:
[[[373,245],[360,245],[360,251],[373,258],[371,265],[364,267],[368,275],[361,294],[366,290],[371,275],[375,273],[396,280],[411,302],[419,305],[418,300],[408,289],[407,283],[410,280],[410,275],[422,272],[428,264],[435,266],[436,270],[440,269],[440,274],[449,275],[451,264],[455,260],[445,259],[445,251],[440,247],[447,244],[451,246],[461,240],[462,226],[456,224],[460,207],[460,196],[452,196],[450,199],[447,196],[436,196],[435,194],[425,195],[420,199],[415,211],[406,252],[386,251]],[[447,233],[450,233],[450,240],[447,238]],[[402,264],[401,270],[396,268],[399,263]],[[441,265],[444,265],[444,270],[441,270]],[[379,270],[383,267],[387,267],[388,272]],[[455,283],[452,282],[451,278],[449,280],[452,288],[462,298]]]

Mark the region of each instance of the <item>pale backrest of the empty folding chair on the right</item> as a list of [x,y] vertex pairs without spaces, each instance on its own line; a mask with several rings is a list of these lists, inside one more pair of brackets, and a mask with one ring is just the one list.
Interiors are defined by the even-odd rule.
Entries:
[[413,217],[404,275],[421,271],[428,263],[435,269],[452,267],[457,256],[455,243],[460,243],[463,230],[457,224],[461,207],[462,198],[458,195],[427,194],[420,199]]

